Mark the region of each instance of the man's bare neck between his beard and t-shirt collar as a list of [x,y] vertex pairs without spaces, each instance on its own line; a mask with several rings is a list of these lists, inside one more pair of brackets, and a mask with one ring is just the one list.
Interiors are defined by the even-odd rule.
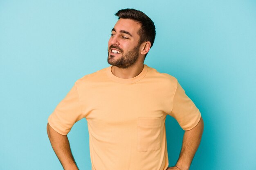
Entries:
[[144,68],[144,63],[136,63],[129,68],[118,68],[113,65],[111,72],[119,78],[133,78],[139,75]]

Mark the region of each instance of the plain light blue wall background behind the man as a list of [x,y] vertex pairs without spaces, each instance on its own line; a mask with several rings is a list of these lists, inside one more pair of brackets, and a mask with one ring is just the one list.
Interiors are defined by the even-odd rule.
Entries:
[[[255,0],[1,0],[0,169],[61,170],[47,118],[74,82],[108,67],[107,42],[119,9],[156,25],[145,64],[175,76],[204,119],[191,170],[256,169]],[[183,130],[166,119],[170,166]],[[68,134],[90,170],[85,119]]]

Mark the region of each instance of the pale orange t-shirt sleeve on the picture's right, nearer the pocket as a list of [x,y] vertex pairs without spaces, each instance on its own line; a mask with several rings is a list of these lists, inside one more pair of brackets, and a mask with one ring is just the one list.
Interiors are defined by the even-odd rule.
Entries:
[[201,118],[199,109],[185,94],[184,89],[182,89],[179,83],[177,83],[177,88],[173,96],[173,109],[170,115],[177,120],[185,131],[193,129]]

